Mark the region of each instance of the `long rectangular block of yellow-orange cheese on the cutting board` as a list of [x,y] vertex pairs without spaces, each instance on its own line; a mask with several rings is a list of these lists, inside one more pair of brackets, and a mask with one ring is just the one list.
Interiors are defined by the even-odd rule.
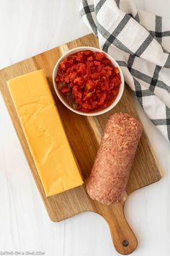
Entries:
[[46,196],[83,184],[42,70],[7,82]]

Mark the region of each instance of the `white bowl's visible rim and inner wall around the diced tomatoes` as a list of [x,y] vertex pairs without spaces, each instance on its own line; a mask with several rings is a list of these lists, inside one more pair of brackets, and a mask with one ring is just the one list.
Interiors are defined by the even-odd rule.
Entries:
[[[122,81],[121,85],[120,85],[119,93],[118,93],[117,97],[115,98],[115,101],[113,101],[113,103],[111,105],[109,105],[107,108],[104,108],[104,109],[99,110],[99,111],[94,111],[94,112],[91,112],[91,113],[84,113],[82,111],[77,111],[76,109],[74,109],[70,105],[68,105],[66,99],[63,98],[61,93],[58,91],[58,88],[57,88],[57,85],[56,85],[56,82],[55,82],[55,77],[57,75],[58,65],[60,64],[60,62],[63,61],[63,59],[65,59],[68,55],[76,54],[79,51],[86,51],[86,50],[103,52],[107,56],[107,58],[112,62],[112,64],[114,64],[114,66],[117,67],[120,70],[120,78],[121,78],[121,81]],[[109,111],[110,109],[114,108],[117,105],[117,103],[120,101],[120,98],[122,97],[125,82],[124,82],[124,77],[122,75],[122,70],[120,69],[120,66],[117,64],[117,61],[115,61],[115,59],[113,59],[111,56],[109,56],[109,54],[106,54],[104,51],[99,50],[99,48],[82,46],[82,47],[76,47],[76,48],[71,49],[66,54],[61,56],[60,59],[58,59],[58,62],[55,64],[55,67],[53,69],[53,85],[54,85],[54,88],[55,88],[55,92],[58,95],[58,98],[71,111],[75,112],[76,114],[83,115],[83,116],[98,116],[98,115],[106,113],[107,111]]]

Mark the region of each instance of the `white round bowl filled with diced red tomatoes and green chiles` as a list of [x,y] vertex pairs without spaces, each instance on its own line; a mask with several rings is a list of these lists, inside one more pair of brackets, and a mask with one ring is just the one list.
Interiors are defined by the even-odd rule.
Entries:
[[117,61],[94,47],[73,48],[53,69],[53,85],[71,111],[97,116],[114,108],[122,97],[124,78]]

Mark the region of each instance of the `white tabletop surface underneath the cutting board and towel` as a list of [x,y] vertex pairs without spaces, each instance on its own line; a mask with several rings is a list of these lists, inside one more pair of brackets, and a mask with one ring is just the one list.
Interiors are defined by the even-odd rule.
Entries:
[[[135,2],[170,18],[169,0]],[[1,0],[0,67],[89,33],[78,8],[79,0]],[[126,203],[125,215],[138,237],[133,256],[169,256],[170,146],[142,112],[140,119],[163,178],[134,192]],[[50,221],[0,95],[0,252],[5,250],[35,250],[48,256],[118,255],[102,217],[82,213],[60,223]]]

